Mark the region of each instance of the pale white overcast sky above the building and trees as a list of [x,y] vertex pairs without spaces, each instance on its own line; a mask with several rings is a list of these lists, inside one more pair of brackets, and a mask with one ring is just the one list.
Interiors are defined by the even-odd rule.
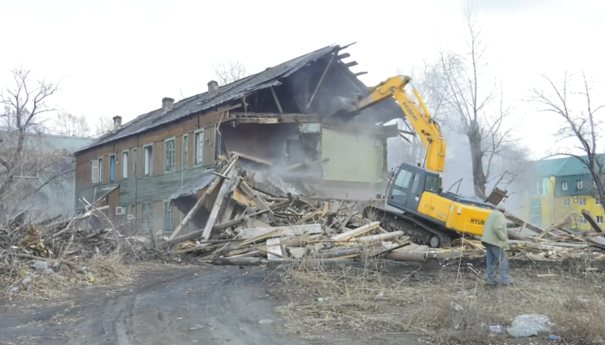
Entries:
[[[439,44],[464,49],[460,0],[353,1],[8,1],[0,0],[0,82],[23,65],[62,79],[55,102],[72,114],[124,121],[159,108],[162,97],[196,94],[214,78],[210,63],[241,60],[253,72],[329,44],[349,44],[353,71],[368,85],[436,57]],[[487,14],[491,73],[525,117],[536,156],[551,146],[554,121],[520,103],[561,80],[566,69],[605,78],[601,42],[605,3],[478,1]],[[605,100],[596,97],[595,102]]]

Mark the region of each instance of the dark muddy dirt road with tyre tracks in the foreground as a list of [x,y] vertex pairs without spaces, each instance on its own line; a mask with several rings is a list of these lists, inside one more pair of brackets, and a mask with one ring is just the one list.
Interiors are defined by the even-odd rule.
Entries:
[[[116,295],[86,292],[60,305],[10,305],[0,318],[2,344],[414,344],[401,337],[306,341],[286,335],[266,293],[263,268],[189,267],[143,277]],[[100,294],[100,295],[99,295]]]

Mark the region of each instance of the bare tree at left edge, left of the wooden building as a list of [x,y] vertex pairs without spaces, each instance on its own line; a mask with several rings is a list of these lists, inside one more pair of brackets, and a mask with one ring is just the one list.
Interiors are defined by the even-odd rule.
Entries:
[[55,109],[49,98],[59,84],[34,79],[27,69],[11,70],[12,83],[0,94],[0,211],[6,215],[28,196],[74,171],[73,158],[43,142],[42,124]]

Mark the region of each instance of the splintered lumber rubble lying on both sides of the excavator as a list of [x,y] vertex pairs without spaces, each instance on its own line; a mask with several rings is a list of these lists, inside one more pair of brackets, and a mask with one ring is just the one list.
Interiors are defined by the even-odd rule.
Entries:
[[[250,168],[240,161],[256,166]],[[290,190],[301,190],[300,185],[284,182],[269,168],[270,163],[237,152],[228,160],[223,157],[222,167],[212,172],[212,183],[197,191],[195,205],[171,236],[157,243],[157,248],[168,248],[175,254],[195,253],[202,260],[221,265],[358,257],[424,261],[429,257],[447,259],[485,253],[480,240],[472,236],[455,240],[454,247],[447,249],[416,245],[403,231],[388,232],[379,222],[362,216],[364,207],[378,199],[337,201],[318,196],[318,189],[312,185],[302,188],[313,195],[293,196]],[[202,205],[209,211],[205,227],[180,235]],[[546,261],[605,258],[605,239],[600,237],[603,230],[589,221],[598,229],[596,233],[574,233],[564,227],[570,216],[543,230],[507,213],[512,222],[512,257]],[[525,234],[526,228],[535,236]]]

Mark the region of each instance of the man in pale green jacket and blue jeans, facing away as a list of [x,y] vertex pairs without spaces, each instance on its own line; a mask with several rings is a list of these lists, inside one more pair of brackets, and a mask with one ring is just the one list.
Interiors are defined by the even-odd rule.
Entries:
[[[488,266],[488,284],[494,286],[495,269],[500,269],[499,283],[503,285],[511,285],[511,280],[508,276],[508,230],[506,229],[506,218],[504,212],[506,205],[500,202],[488,219],[485,220],[483,226],[483,237],[481,242],[485,247],[485,259]],[[497,266],[496,266],[497,265]]]

